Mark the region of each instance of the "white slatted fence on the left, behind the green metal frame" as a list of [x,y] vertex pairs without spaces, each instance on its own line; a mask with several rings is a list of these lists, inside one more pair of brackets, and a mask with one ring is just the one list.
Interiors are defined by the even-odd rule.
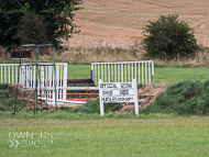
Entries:
[[[52,64],[42,63],[37,66],[37,90],[40,88],[54,89],[54,66]],[[67,87],[67,64],[57,63],[55,64],[56,69],[56,87],[57,87],[57,98],[66,100],[66,87]],[[34,64],[21,64],[19,83],[22,83],[23,88],[35,89],[35,71],[36,66]],[[0,64],[0,83],[14,85],[18,82],[18,70],[19,64]],[[44,94],[44,91],[42,91]],[[55,99],[53,91],[47,91],[45,98]]]

